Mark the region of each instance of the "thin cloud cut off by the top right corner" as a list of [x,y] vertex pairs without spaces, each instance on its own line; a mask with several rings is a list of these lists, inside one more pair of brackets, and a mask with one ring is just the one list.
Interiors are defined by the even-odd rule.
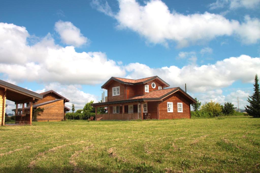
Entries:
[[260,0],[217,0],[209,5],[211,10],[218,8],[225,8],[228,6],[230,9],[246,8],[254,9],[259,7]]

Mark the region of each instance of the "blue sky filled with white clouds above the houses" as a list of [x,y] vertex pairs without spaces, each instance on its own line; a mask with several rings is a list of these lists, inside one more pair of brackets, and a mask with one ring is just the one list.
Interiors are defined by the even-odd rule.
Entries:
[[[82,109],[110,77],[159,76],[202,103],[248,104],[260,0],[3,1],[0,79]],[[7,101],[8,113],[15,108]]]

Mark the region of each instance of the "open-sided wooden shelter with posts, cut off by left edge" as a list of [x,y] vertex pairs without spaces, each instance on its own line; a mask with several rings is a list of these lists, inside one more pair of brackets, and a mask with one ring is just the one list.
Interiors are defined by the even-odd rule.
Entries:
[[[35,93],[33,91],[30,91],[28,89],[16,86],[14,84],[11,84],[9,82],[0,80],[0,120],[1,120],[1,126],[4,125],[5,120],[5,105],[6,105],[6,99],[14,101],[16,104],[15,111],[15,117],[17,120],[20,120],[23,118],[24,124],[32,124],[32,112],[33,107],[28,107],[28,111],[25,111],[24,104],[25,103],[31,103],[30,105],[33,105],[37,100],[42,99],[43,96],[41,94]],[[18,104],[22,104],[22,108],[20,113],[18,113]],[[16,121],[18,124],[19,121]]]

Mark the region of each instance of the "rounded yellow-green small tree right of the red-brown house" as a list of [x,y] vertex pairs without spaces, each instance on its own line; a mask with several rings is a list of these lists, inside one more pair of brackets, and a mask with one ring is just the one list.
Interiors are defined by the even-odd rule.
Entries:
[[220,103],[211,100],[210,102],[203,104],[200,110],[206,111],[210,114],[211,117],[214,117],[221,115],[222,107],[223,106],[220,105]]

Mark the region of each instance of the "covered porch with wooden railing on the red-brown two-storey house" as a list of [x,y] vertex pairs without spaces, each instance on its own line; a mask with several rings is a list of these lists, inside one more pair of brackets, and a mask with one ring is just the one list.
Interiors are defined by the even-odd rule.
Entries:
[[[95,116],[96,119],[102,117],[102,120],[145,120],[158,119],[158,102],[157,101],[134,101],[129,100],[119,101],[117,103],[103,102],[96,104]],[[93,105],[94,105],[93,104]],[[98,114],[98,107],[108,107],[108,113]]]

